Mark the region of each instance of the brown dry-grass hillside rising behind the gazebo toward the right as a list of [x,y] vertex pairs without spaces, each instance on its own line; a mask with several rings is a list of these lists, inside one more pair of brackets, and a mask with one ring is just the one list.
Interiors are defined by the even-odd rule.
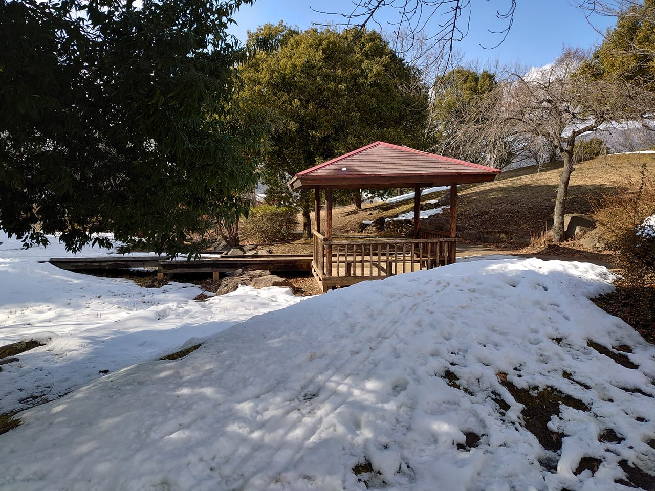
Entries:
[[[567,213],[591,213],[593,205],[601,204],[603,196],[614,194],[629,181],[639,179],[643,164],[646,172],[655,176],[655,154],[608,155],[581,162],[571,177]],[[537,166],[509,170],[491,183],[460,187],[458,229],[508,230],[514,235],[514,240],[528,242],[531,234],[543,232],[552,217],[561,167],[561,162],[557,162],[543,166],[541,170]],[[421,202],[441,195],[443,192],[424,195]],[[362,210],[352,205],[342,206],[333,210],[333,230],[335,234],[356,234],[363,220],[396,217],[412,209],[411,199],[394,204],[364,204]],[[301,223],[300,215],[298,219]],[[441,219],[436,217],[424,222],[434,225],[440,221],[447,221],[447,213]],[[248,237],[242,239],[248,244]],[[276,253],[311,252],[310,242],[302,240],[269,247]]]

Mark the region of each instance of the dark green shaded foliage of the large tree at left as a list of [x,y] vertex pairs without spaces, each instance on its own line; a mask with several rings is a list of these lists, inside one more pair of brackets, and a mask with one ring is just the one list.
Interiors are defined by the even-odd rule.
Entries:
[[250,3],[0,0],[3,230],[173,254],[243,213],[267,124],[233,101],[248,55],[225,30]]

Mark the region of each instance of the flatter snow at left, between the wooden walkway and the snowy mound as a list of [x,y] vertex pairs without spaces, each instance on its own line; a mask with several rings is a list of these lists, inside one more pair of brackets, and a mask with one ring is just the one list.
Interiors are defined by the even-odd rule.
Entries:
[[[55,399],[103,375],[179,349],[255,314],[299,302],[290,289],[238,291],[194,302],[202,291],[171,282],[141,288],[123,278],[98,278],[38,263],[69,257],[54,238],[25,250],[0,232],[0,346],[36,339],[45,346],[2,365],[0,414]],[[112,255],[90,247],[80,256]]]

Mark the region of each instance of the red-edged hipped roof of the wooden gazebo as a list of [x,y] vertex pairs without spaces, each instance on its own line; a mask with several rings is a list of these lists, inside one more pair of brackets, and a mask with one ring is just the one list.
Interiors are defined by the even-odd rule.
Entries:
[[422,187],[493,181],[500,170],[376,141],[299,172],[291,189]]

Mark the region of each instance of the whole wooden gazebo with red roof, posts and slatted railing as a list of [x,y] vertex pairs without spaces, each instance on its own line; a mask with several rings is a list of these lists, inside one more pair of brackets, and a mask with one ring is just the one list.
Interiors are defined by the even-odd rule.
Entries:
[[[455,262],[457,185],[493,181],[500,170],[455,158],[376,141],[324,164],[299,172],[291,189],[314,189],[312,272],[323,291],[407,270]],[[421,187],[451,187],[450,234],[419,225]],[[413,239],[335,241],[332,237],[332,189],[413,188]],[[326,192],[325,235],[320,233],[320,190]],[[446,235],[446,236],[445,236]]]

